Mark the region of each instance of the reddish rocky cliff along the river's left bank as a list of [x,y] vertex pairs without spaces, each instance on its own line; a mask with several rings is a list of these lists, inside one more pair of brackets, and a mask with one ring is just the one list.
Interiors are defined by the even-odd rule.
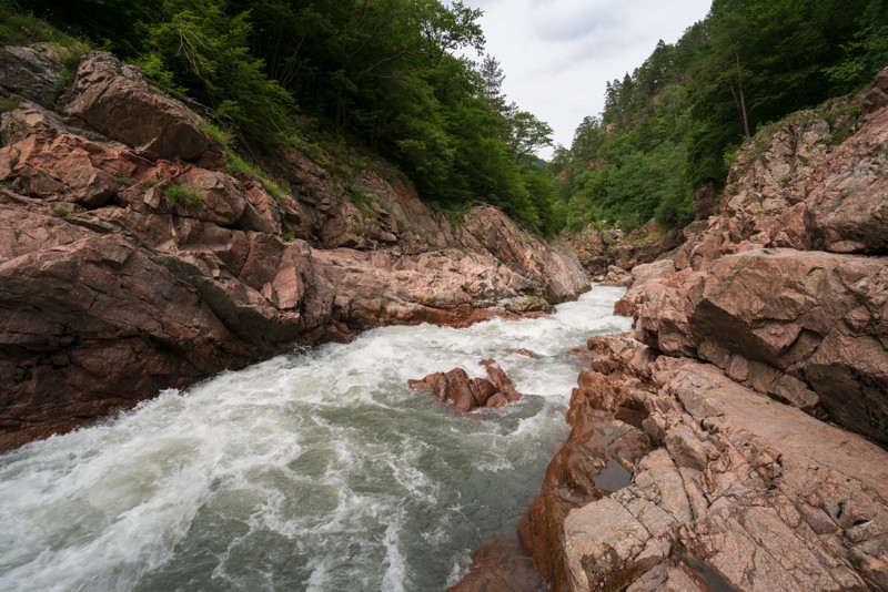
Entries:
[[587,289],[564,245],[491,207],[453,224],[379,163],[291,151],[273,195],[110,54],[63,92],[49,45],[2,63],[0,451],[295,345]]

